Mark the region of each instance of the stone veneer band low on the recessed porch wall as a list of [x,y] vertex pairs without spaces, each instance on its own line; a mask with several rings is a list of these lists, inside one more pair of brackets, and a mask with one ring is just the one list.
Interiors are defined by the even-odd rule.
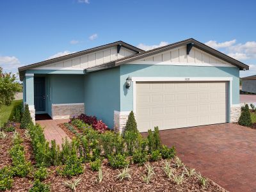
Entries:
[[52,104],[52,119],[72,118],[84,113],[83,103]]

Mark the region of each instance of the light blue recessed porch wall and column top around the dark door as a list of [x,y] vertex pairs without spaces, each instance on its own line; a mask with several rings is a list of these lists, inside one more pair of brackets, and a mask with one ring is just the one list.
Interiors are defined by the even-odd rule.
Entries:
[[[52,104],[83,103],[84,102],[84,74],[46,74],[46,70],[36,71],[35,76],[45,77],[45,112],[52,115]],[[40,71],[43,71],[42,74]],[[65,70],[67,73],[67,70]],[[34,76],[24,77],[24,102],[34,104]]]

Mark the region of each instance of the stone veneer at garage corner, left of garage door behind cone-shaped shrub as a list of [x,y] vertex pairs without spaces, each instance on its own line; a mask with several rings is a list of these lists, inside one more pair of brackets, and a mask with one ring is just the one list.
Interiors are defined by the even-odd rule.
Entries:
[[129,113],[131,111],[114,111],[114,131],[122,133],[124,131]]

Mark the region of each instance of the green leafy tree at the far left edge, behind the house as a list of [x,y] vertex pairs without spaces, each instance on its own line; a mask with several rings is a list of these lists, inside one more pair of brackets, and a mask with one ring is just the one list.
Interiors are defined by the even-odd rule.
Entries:
[[16,81],[15,74],[3,72],[0,67],[0,107],[9,106],[15,98],[15,93],[20,92],[21,86]]

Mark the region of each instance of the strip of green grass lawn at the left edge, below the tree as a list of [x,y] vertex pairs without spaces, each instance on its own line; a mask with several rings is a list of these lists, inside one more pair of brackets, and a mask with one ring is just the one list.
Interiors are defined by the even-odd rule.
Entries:
[[15,106],[18,106],[22,100],[13,100],[10,106],[2,106],[0,108],[0,127],[3,126],[12,117],[12,110]]

